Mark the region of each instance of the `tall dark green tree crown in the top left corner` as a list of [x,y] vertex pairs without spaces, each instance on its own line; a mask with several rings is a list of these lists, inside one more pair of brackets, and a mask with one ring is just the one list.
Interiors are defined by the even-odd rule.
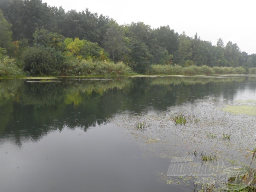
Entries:
[[13,25],[14,40],[26,38],[32,44],[37,27],[56,30],[54,12],[42,0],[1,0],[0,8],[5,9],[6,19]]

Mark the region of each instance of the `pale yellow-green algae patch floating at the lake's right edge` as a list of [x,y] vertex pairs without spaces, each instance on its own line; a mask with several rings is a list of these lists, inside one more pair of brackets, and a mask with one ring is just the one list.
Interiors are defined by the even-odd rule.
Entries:
[[251,105],[226,105],[222,110],[232,114],[256,115],[256,106]]

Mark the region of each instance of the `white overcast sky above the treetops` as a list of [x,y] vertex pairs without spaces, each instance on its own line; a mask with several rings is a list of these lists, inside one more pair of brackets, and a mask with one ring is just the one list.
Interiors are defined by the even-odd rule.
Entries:
[[144,22],[151,28],[169,25],[175,32],[190,37],[198,34],[201,40],[216,45],[222,38],[237,43],[241,51],[256,53],[255,0],[42,0],[77,12],[89,8],[118,24]]

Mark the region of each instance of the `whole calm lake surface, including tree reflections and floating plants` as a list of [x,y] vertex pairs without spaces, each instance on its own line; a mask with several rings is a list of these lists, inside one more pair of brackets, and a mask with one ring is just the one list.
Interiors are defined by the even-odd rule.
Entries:
[[255,76],[1,79],[1,192],[193,192],[172,159],[250,164],[255,104]]

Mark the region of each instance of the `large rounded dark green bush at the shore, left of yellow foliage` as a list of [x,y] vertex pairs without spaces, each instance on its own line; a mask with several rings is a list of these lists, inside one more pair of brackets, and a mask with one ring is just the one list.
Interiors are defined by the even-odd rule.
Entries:
[[54,48],[32,47],[22,53],[22,63],[32,76],[58,76],[64,57]]

